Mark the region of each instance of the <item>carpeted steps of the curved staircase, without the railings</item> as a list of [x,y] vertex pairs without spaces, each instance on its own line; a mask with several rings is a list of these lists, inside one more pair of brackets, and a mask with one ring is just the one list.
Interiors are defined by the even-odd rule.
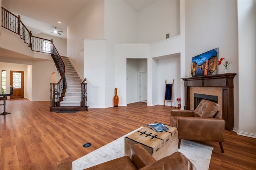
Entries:
[[68,57],[61,57],[65,65],[66,93],[60,106],[80,106],[81,102],[81,82]]

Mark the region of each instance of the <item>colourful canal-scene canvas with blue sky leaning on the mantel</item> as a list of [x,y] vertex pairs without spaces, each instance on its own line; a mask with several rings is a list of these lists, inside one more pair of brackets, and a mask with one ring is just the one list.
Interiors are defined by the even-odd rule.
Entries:
[[191,76],[217,74],[218,51],[219,48],[216,48],[192,57]]

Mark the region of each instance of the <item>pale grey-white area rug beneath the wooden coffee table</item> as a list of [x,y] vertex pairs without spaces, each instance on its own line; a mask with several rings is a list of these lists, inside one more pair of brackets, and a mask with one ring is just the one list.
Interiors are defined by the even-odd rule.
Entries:
[[[142,128],[142,127],[140,127]],[[140,129],[138,128],[138,129]],[[116,139],[115,141],[104,145],[103,147],[94,150],[74,160],[72,162],[72,170],[83,170],[91,166],[119,158],[124,156],[124,137],[137,131],[138,129]],[[182,140],[179,152],[182,152],[198,170],[208,170],[210,159],[212,156],[212,147],[208,147],[192,141]]]

